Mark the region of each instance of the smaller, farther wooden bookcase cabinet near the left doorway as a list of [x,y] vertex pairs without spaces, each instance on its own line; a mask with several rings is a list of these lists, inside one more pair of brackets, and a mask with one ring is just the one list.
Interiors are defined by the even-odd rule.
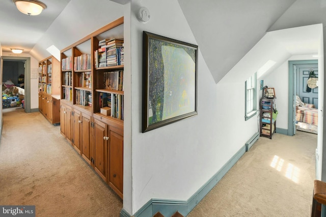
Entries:
[[51,124],[60,123],[60,62],[53,56],[39,62],[39,111]]

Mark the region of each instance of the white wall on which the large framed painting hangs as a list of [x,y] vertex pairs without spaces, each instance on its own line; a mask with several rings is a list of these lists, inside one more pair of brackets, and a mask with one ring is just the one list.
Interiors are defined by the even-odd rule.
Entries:
[[[146,24],[135,17],[140,7],[150,11]],[[124,209],[134,214],[152,198],[188,200],[258,129],[257,118],[244,121],[243,91],[249,75],[216,85],[199,47],[198,116],[142,133],[143,31],[197,43],[176,1],[132,1],[130,20],[131,90],[125,90],[125,97],[131,94],[132,120],[125,116],[124,124],[125,132],[131,125],[125,146],[132,148],[132,187],[124,189],[132,188],[132,196],[124,192]],[[132,202],[125,203],[129,197]]]

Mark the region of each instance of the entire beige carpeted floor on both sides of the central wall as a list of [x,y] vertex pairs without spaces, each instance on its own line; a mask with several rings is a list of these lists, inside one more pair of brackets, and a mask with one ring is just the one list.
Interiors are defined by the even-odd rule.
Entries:
[[[36,205],[36,216],[119,216],[122,200],[40,113],[6,109],[0,205]],[[260,138],[188,214],[310,216],[317,135]],[[166,216],[168,217],[168,216]]]

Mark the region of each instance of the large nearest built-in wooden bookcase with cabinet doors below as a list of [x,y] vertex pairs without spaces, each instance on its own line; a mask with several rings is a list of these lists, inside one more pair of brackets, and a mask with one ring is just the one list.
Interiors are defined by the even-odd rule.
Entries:
[[123,55],[121,17],[62,49],[60,72],[61,133],[121,198]]

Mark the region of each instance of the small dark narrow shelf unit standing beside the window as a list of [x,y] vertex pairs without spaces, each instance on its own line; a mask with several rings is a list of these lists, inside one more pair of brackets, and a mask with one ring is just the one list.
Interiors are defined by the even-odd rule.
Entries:
[[273,133],[276,132],[276,98],[260,99],[260,136],[271,139]]

